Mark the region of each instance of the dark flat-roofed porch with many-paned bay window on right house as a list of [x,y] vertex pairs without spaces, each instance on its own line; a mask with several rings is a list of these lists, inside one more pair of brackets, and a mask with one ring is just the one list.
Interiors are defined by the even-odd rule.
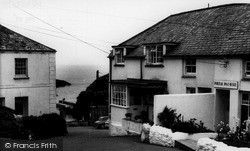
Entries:
[[[141,123],[154,120],[153,98],[157,94],[168,94],[167,81],[111,81],[111,125],[114,131],[124,134],[129,131],[140,133]],[[131,113],[130,120],[124,119],[126,113]]]

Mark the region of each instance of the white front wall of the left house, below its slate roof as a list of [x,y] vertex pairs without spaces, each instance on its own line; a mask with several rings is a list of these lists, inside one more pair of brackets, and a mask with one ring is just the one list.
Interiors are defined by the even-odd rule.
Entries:
[[[15,58],[28,58],[29,79],[14,79]],[[56,109],[55,53],[0,54],[0,97],[15,109],[15,97],[27,96],[29,115],[58,112]]]

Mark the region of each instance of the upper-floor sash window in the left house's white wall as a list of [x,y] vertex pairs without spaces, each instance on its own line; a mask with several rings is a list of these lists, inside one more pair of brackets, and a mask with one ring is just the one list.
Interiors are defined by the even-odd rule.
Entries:
[[25,78],[28,77],[28,59],[15,58],[15,77]]

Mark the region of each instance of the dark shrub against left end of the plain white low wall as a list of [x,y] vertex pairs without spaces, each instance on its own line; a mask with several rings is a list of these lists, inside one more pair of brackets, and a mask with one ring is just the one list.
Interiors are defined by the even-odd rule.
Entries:
[[163,112],[158,114],[158,119],[163,127],[171,128],[177,119],[176,110],[166,106]]

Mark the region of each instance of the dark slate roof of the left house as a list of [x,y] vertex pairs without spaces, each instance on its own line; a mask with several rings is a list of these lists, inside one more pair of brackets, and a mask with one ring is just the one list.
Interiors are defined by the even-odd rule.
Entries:
[[0,52],[56,52],[56,50],[31,40],[0,25]]

